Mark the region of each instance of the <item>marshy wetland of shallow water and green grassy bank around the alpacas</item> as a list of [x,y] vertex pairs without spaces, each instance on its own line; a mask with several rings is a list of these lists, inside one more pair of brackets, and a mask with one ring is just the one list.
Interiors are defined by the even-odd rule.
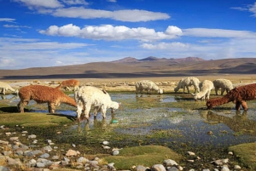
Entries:
[[[66,92],[73,96],[72,92]],[[247,163],[236,156],[230,157],[230,146],[256,142],[256,100],[248,101],[248,111],[236,111],[233,103],[207,110],[205,101],[195,101],[191,94],[134,94],[132,91],[109,91],[112,100],[120,102],[119,110],[107,117],[90,116],[89,121],[76,121],[76,109],[61,104],[55,114],[49,114],[46,104],[31,101],[24,114],[18,113],[19,97],[15,94],[0,98],[0,125],[37,134],[41,145],[53,140],[59,149],[75,149],[87,155],[111,155],[102,149],[102,141],[112,147],[127,148],[144,145],[161,145],[183,156],[181,165],[187,168],[212,168],[212,160],[229,158],[243,170],[250,170]],[[218,97],[214,95],[212,97]],[[6,139],[0,130],[0,140]],[[24,141],[27,141],[24,139]],[[31,144],[31,142],[26,142]],[[38,142],[38,145],[40,143]],[[255,149],[256,150],[256,149]],[[201,157],[201,162],[187,162],[188,151]],[[203,163],[203,164],[202,164]],[[203,165],[203,166],[202,166]],[[125,168],[130,169],[130,168]]]

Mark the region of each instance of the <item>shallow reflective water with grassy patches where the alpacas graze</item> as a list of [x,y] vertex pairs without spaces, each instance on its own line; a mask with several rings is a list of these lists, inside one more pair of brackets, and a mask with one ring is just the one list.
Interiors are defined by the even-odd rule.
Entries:
[[[180,94],[182,95],[182,94]],[[230,145],[256,141],[256,102],[248,102],[248,111],[234,110],[234,104],[218,106],[212,111],[206,109],[205,102],[182,100],[177,94],[111,94],[114,101],[121,103],[119,110],[102,119],[96,118],[74,123],[61,136],[59,143],[93,145],[102,140],[110,140],[114,145],[189,145],[193,147],[211,146],[225,148]],[[16,105],[19,98],[5,97],[9,105]],[[32,111],[45,112],[47,105],[35,105]],[[57,114],[76,116],[75,111],[64,110],[61,104]],[[116,123],[114,123],[115,121]]]

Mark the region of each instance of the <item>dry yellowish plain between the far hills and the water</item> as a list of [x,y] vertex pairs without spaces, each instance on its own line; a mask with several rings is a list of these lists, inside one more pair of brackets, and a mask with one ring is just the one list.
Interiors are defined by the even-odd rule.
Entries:
[[[184,76],[187,77],[187,76]],[[230,79],[234,86],[256,83],[256,74],[253,75],[218,75],[218,76],[195,76],[200,81],[211,80],[218,78]],[[173,89],[177,86],[179,80],[183,77],[129,77],[129,78],[79,78],[80,85],[90,85],[98,88],[105,89],[107,91],[118,92],[132,92],[135,91],[135,83],[140,80],[151,80],[156,83],[160,88],[164,89],[165,93],[172,93]],[[21,88],[30,84],[47,85],[50,87],[58,86],[65,79],[35,79],[35,80],[1,80],[2,82],[9,83],[12,88]],[[179,90],[181,91],[181,89]]]

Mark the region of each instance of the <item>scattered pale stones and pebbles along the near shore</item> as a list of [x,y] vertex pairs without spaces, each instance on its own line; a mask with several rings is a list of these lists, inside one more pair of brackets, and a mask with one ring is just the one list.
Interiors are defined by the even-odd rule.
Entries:
[[[9,136],[13,133],[5,133],[6,136]],[[22,134],[27,134],[27,132],[22,132]],[[28,135],[28,139],[35,139],[37,136],[35,134]],[[34,142],[35,140],[33,140]],[[46,140],[48,144],[54,144],[51,140]],[[109,141],[103,141],[102,147],[105,149],[110,149],[108,145],[110,144]],[[66,152],[65,157],[60,157],[60,155],[54,154],[53,149],[57,149],[57,147],[52,148],[51,145],[39,147],[33,145],[33,147],[38,149],[31,150],[30,147],[32,145],[23,145],[19,137],[10,137],[8,140],[0,140],[0,148],[9,146],[8,151],[3,151],[0,153],[0,158],[4,157],[6,159],[6,166],[0,166],[0,171],[9,171],[12,170],[15,166],[20,166],[21,168],[34,168],[33,170],[38,171],[49,171],[53,169],[60,169],[60,168],[70,168],[71,165],[74,165],[74,168],[83,169],[83,170],[94,170],[94,171],[116,171],[114,167],[114,163],[110,162],[104,165],[101,165],[102,159],[99,157],[94,158],[93,160],[89,160],[84,156],[84,154],[80,155],[79,151],[75,151],[73,149],[69,149]],[[75,145],[72,145],[75,147]],[[119,151],[121,149],[113,148],[112,155],[119,155]],[[60,149],[60,151],[64,151]],[[51,153],[49,153],[51,152]],[[188,151],[189,156],[195,156],[195,153],[192,151]],[[229,155],[233,155],[233,153],[229,152]],[[18,156],[18,157],[17,157]],[[22,157],[26,158],[26,160],[22,159]],[[70,159],[72,157],[72,161]],[[75,157],[75,161],[73,157]],[[22,163],[23,161],[24,163]],[[195,160],[187,160],[188,162],[195,162]],[[198,162],[198,160],[196,160]],[[229,158],[223,158],[214,160],[212,162],[212,166],[214,171],[230,171],[230,161]],[[127,168],[128,169],[128,168]],[[188,168],[186,166],[179,165],[176,161],[172,160],[172,158],[164,160],[162,163],[154,164],[153,166],[143,166],[137,165],[132,167],[134,171],[182,171],[183,169],[189,171],[195,171],[197,169]],[[231,170],[241,170],[241,166],[235,165]],[[209,168],[203,168],[202,171],[210,171]]]

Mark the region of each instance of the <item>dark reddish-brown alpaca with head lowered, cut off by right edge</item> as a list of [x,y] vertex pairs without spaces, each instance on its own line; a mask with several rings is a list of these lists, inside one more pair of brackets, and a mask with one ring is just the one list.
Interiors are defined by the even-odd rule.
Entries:
[[247,110],[246,100],[256,99],[256,83],[240,86],[230,90],[228,94],[225,94],[221,98],[215,98],[212,100],[207,100],[207,109],[212,109],[212,107],[217,105],[224,105],[230,101],[236,103],[236,111],[240,110],[241,107]]

